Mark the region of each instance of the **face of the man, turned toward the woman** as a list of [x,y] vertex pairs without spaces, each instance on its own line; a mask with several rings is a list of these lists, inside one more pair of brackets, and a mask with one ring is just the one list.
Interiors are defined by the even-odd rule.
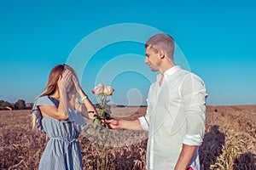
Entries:
[[145,55],[145,63],[150,67],[151,71],[159,71],[160,56],[157,50],[148,46]]

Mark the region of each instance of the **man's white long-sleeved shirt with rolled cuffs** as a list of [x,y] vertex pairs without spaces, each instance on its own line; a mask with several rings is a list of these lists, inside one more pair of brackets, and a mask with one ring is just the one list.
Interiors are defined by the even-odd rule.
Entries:
[[[202,143],[206,98],[201,78],[179,66],[158,75],[149,88],[147,114],[139,117],[148,130],[147,169],[173,169],[183,144]],[[189,166],[199,169],[198,150]]]

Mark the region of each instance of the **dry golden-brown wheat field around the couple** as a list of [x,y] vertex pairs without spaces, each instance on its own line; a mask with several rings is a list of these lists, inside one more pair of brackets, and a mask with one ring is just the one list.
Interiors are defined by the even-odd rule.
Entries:
[[[113,108],[113,116],[132,119],[145,110]],[[48,139],[32,131],[30,113],[0,111],[0,169],[38,169]],[[147,133],[109,130],[108,136],[108,169],[143,169]],[[100,169],[102,143],[87,137],[85,131],[79,137],[84,169]],[[256,105],[207,106],[200,160],[201,169],[206,170],[256,169]]]

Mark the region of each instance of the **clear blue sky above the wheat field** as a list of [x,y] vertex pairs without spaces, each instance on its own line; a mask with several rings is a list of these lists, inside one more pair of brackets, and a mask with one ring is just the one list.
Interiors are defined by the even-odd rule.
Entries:
[[[89,42],[87,37],[109,26],[126,28],[125,23],[130,23],[174,37],[183,54],[177,64],[204,80],[207,105],[255,105],[255,8],[253,0],[1,1],[0,99],[33,102],[55,65],[75,59],[79,45],[86,41],[93,48],[112,34]],[[115,30],[127,37],[136,34],[125,31]],[[145,104],[155,77],[143,64],[143,41],[149,34],[138,29],[141,42],[131,39],[102,46],[84,57],[89,59],[86,65],[76,60],[72,66],[75,70],[80,62],[84,66],[79,70],[81,84],[93,102],[96,97],[90,90],[103,82],[115,88],[113,103]],[[87,47],[81,53],[90,51]]]

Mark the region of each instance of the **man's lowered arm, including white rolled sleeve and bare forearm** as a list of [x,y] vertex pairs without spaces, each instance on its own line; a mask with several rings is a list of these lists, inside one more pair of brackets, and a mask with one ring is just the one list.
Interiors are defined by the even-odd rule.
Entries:
[[195,152],[205,131],[207,92],[204,82],[199,77],[189,75],[183,80],[181,88],[183,105],[186,112],[186,133],[183,137],[183,148],[178,157],[175,170],[186,169],[195,156]]

